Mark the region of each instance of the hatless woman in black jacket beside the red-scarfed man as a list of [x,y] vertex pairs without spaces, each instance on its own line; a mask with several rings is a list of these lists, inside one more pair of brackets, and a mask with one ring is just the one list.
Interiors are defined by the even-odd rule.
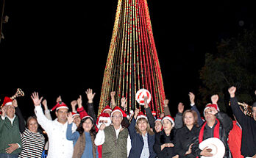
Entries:
[[182,115],[184,126],[177,129],[174,146],[174,151],[179,155],[179,158],[196,158],[196,156],[191,153],[191,146],[199,134],[197,120],[197,114],[192,109],[186,110]]

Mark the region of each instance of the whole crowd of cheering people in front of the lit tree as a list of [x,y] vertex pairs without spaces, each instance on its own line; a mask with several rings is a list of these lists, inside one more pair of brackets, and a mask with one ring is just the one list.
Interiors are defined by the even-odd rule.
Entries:
[[[236,87],[228,89],[233,121],[218,109],[218,95],[211,96],[211,103],[202,112],[204,117],[196,108],[195,95],[189,93],[191,109],[184,111],[184,105],[179,103],[172,118],[166,99],[163,114],[156,118],[147,101],[143,111],[134,109],[128,114],[127,99],[121,98],[118,107],[115,92],[110,93],[111,104],[104,107],[99,117],[94,111],[95,93],[91,89],[85,92],[87,105],[82,106],[79,96],[71,101],[71,112],[60,96],[49,110],[46,99],[35,92],[31,96],[35,115],[26,121],[17,100],[5,97],[0,118],[0,157],[212,157],[209,148],[199,148],[199,144],[215,137],[224,144],[224,158],[256,158],[256,102],[252,104],[252,117],[246,115],[238,105],[235,91]],[[50,111],[54,110],[56,119],[52,120]]]

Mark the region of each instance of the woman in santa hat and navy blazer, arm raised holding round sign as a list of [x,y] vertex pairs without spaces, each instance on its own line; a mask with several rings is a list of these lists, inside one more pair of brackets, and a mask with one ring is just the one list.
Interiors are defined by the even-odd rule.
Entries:
[[154,158],[157,156],[153,149],[154,132],[150,129],[148,118],[143,112],[139,112],[139,109],[135,109],[134,118],[128,129],[132,141],[129,157]]

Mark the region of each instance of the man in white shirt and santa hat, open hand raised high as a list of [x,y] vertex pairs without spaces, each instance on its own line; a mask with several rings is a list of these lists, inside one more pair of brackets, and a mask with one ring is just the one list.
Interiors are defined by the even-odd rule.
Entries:
[[[41,101],[43,97],[39,98],[38,93],[33,93],[31,96],[35,104],[35,115],[38,118],[38,123],[46,131],[49,137],[49,151],[48,158],[70,158],[72,157],[74,147],[73,141],[66,139],[66,131],[68,127],[68,106],[61,100],[51,109],[56,109],[57,118],[50,121],[43,115]],[[72,132],[75,132],[77,126],[72,123]]]

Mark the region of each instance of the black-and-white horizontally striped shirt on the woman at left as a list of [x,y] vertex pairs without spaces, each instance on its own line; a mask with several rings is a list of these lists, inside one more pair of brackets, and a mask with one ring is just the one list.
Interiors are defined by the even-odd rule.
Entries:
[[42,157],[44,147],[43,134],[34,133],[26,129],[21,134],[22,150],[18,157],[21,158],[40,158]]

